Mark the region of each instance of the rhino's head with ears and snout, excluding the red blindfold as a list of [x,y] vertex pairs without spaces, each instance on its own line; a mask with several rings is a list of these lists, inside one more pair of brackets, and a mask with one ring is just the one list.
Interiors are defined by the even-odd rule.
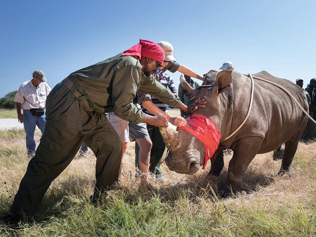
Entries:
[[[194,114],[201,114],[215,122],[218,129],[221,127],[224,106],[220,106],[218,97],[228,91],[232,82],[232,71],[211,72],[206,77],[206,83],[193,89],[182,77],[181,86],[189,96],[189,103],[194,103],[198,98],[204,99],[205,107],[199,107]],[[212,78],[216,76],[213,84]],[[205,82],[205,81],[204,81]],[[189,106],[189,105],[188,105]],[[221,108],[220,108],[221,107]],[[190,127],[190,125],[187,125]],[[170,170],[178,173],[196,173],[204,163],[205,148],[203,143],[190,133],[180,130],[170,133],[161,132],[163,140],[170,153],[166,164]]]

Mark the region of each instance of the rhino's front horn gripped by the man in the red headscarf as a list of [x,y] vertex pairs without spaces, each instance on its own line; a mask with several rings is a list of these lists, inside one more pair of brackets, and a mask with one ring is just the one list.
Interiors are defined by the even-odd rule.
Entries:
[[169,151],[175,151],[180,148],[182,133],[170,128],[159,128],[163,141]]

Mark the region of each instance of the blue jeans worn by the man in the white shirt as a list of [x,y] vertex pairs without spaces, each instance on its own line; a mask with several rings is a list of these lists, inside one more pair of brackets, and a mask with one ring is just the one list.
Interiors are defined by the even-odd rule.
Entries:
[[45,113],[42,116],[34,116],[30,110],[23,110],[23,124],[24,130],[26,133],[26,148],[27,148],[27,155],[34,155],[35,154],[35,141],[34,141],[34,131],[37,127],[43,133],[44,125],[45,125]]

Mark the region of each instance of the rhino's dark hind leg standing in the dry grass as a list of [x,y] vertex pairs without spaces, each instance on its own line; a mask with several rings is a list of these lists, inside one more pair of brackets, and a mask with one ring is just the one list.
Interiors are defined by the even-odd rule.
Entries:
[[293,136],[289,141],[285,142],[284,155],[282,159],[282,165],[278,173],[279,175],[291,171],[292,161],[295,156],[299,140],[300,137]]

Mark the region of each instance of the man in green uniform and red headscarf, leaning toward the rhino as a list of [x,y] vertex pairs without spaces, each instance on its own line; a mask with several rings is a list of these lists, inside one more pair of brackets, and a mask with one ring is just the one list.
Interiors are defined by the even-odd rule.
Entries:
[[104,113],[167,126],[162,114],[149,116],[133,105],[138,89],[179,107],[177,96],[153,76],[164,60],[160,46],[140,40],[125,52],[71,73],[46,100],[46,124],[40,145],[28,164],[14,202],[3,221],[16,224],[37,211],[51,182],[70,164],[82,142],[96,156],[96,184],[92,199],[116,189],[122,143]]

